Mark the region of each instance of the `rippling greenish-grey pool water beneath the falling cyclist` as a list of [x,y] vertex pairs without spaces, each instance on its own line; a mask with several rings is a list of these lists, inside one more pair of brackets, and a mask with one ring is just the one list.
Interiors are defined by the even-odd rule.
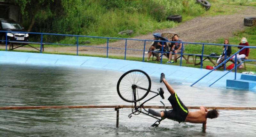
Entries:
[[[0,106],[58,105],[131,105],[116,92],[116,83],[124,72],[93,68],[68,68],[0,64]],[[164,88],[165,99],[156,97],[146,105],[170,106],[170,95],[159,78],[151,77],[151,90]],[[167,78],[186,106],[256,106],[256,93],[212,87],[190,87],[188,83]],[[149,93],[146,99],[153,96]],[[160,111],[161,109],[156,109]],[[195,110],[189,110],[195,111]],[[217,119],[202,124],[156,120],[147,115],[119,110],[116,128],[114,108],[0,110],[1,136],[255,136],[256,111],[220,110]]]

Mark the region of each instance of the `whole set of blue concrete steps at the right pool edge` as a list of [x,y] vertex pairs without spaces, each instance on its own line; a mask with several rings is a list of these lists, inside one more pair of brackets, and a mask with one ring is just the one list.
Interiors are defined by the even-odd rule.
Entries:
[[256,86],[256,75],[242,74],[241,79],[227,79],[227,87],[251,90]]

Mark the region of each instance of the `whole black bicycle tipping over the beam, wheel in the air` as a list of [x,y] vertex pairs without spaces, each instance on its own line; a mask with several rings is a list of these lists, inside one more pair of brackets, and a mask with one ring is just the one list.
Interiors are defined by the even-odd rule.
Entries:
[[[151,88],[151,80],[150,80],[148,74],[142,70],[137,70],[137,69],[125,72],[119,78],[119,80],[117,82],[117,86],[116,86],[117,93],[120,96],[120,98],[123,99],[124,101],[132,102],[132,113],[130,113],[128,115],[128,117],[131,118],[132,114],[138,115],[140,113],[144,113],[148,116],[151,116],[151,117],[157,119],[157,121],[151,125],[152,127],[157,127],[160,124],[160,122],[162,121],[162,119],[159,119],[159,118],[153,116],[152,114],[150,114],[143,107],[143,105],[147,101],[155,98],[158,95],[160,95],[162,97],[162,99],[164,99],[164,91],[162,88],[159,88],[159,89],[157,89],[158,90],[158,93],[157,93],[157,92],[151,91],[150,88]],[[149,92],[156,93],[156,95],[147,99],[142,104],[137,106],[137,102],[140,103],[140,100],[144,99],[148,95]],[[162,101],[160,101],[160,102],[164,105],[164,103]],[[133,106],[133,103],[134,103],[134,106]],[[165,109],[165,106],[164,106],[164,109]]]

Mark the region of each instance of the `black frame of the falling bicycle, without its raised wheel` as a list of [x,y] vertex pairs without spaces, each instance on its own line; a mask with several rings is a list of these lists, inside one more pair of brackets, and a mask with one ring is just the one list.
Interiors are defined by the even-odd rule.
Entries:
[[[153,96],[153,97],[151,97],[151,98],[149,98],[149,99],[147,99],[146,101],[144,101],[142,104],[140,104],[140,106],[137,106],[137,102],[138,102],[138,101],[136,101],[136,88],[140,88],[140,89],[143,89],[143,90],[148,91],[148,92],[156,93],[156,95]],[[157,92],[154,92],[154,91],[151,91],[151,90],[142,88],[142,87],[137,86],[137,85],[132,85],[132,93],[133,93],[133,99],[134,99],[135,101],[134,101],[134,107],[132,107],[132,113],[130,113],[130,114],[128,115],[128,117],[131,118],[131,117],[132,117],[132,114],[134,114],[134,115],[138,115],[138,114],[140,114],[140,113],[146,114],[146,115],[148,115],[148,116],[150,116],[150,117],[153,117],[153,118],[157,119],[157,121],[156,121],[154,124],[151,125],[152,127],[157,127],[157,126],[160,124],[160,122],[162,121],[162,119],[159,119],[159,118],[157,118],[157,117],[155,117],[155,116],[153,116],[153,115],[150,115],[150,114],[148,113],[148,111],[143,107],[143,105],[144,105],[146,102],[148,102],[149,100],[155,98],[155,97],[158,96],[158,95],[160,95],[160,96],[164,99],[164,95],[163,95],[163,94],[164,94],[164,91],[162,90],[162,88],[160,88],[159,93],[157,93]],[[161,101],[161,103],[163,103],[163,102]],[[163,104],[164,104],[164,103],[163,103]],[[141,110],[141,108],[143,108],[144,111],[146,111],[147,113],[143,112],[143,111]],[[133,110],[134,110],[134,111],[133,111]],[[136,113],[137,113],[137,114],[136,114]],[[158,122],[158,124],[156,124],[157,122]]]

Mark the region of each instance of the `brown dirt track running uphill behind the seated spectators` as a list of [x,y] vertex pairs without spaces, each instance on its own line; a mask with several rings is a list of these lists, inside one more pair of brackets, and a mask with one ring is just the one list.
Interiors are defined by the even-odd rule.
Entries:
[[[175,32],[185,42],[196,41],[215,41],[219,38],[228,38],[233,36],[233,32],[243,30],[244,17],[255,17],[256,7],[250,7],[246,10],[241,10],[234,15],[219,15],[213,17],[196,17],[187,22],[181,23],[179,26],[171,29],[157,30],[153,33],[159,32]],[[133,37],[132,39],[152,39],[153,33],[147,35]],[[146,50],[150,47],[151,42],[146,42]],[[96,45],[100,47],[106,47],[107,44]],[[124,48],[125,41],[120,40],[117,42],[109,43],[110,48]],[[0,46],[4,49],[4,45]],[[22,47],[20,50],[34,50],[30,47]],[[127,49],[144,49],[144,41],[127,40]],[[76,47],[45,47],[44,51],[59,52],[59,53],[76,53]],[[91,48],[91,47],[79,47],[79,54],[100,54],[106,55],[106,49],[104,48]],[[124,50],[109,49],[109,55],[122,55],[124,56]],[[142,57],[143,51],[131,51],[127,50],[127,56]]]

